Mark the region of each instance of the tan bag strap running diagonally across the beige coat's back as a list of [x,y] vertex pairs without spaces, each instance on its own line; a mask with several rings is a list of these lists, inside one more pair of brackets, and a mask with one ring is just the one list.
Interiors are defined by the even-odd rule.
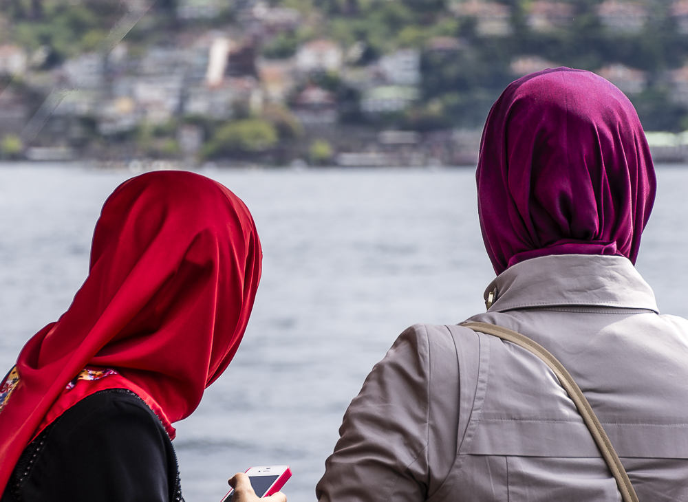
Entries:
[[502,338],[502,340],[515,343],[519,347],[523,347],[543,360],[545,364],[547,364],[548,367],[554,371],[555,375],[557,375],[561,386],[566,390],[569,397],[573,400],[576,408],[578,408],[578,411],[581,414],[581,417],[583,417],[583,422],[585,422],[585,425],[588,426],[588,429],[590,429],[592,438],[595,440],[597,447],[600,449],[602,457],[604,457],[605,461],[607,462],[609,470],[612,471],[614,479],[616,479],[616,485],[619,486],[619,492],[621,492],[621,498],[623,501],[638,502],[638,496],[633,489],[630,479],[628,479],[626,470],[621,465],[619,455],[616,455],[614,446],[612,446],[609,437],[607,437],[607,433],[605,433],[604,429],[602,428],[602,424],[600,424],[599,419],[597,419],[594,411],[592,411],[592,407],[585,398],[585,395],[583,395],[583,391],[581,391],[578,384],[576,384],[561,362],[559,362],[555,356],[552,356],[547,349],[539,345],[539,343],[530,340],[530,338],[527,336],[517,333],[516,331],[487,323],[466,323],[462,326],[473,329],[473,331],[480,331],[481,333],[493,335],[497,338]]

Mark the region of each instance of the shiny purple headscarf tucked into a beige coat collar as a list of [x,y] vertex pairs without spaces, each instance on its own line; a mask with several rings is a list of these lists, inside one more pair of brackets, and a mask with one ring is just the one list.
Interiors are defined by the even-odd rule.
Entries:
[[604,78],[556,68],[511,83],[487,118],[476,177],[497,274],[548,254],[635,263],[654,166],[633,105]]

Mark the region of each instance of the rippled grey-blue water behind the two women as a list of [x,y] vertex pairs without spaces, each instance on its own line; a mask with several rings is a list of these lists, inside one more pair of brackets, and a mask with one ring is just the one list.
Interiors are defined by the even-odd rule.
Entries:
[[[264,272],[235,360],[177,424],[184,497],[218,502],[234,472],[288,463],[290,502],[313,501],[346,406],[400,331],[484,309],[494,274],[473,171],[204,174],[250,208]],[[127,177],[0,164],[1,368],[69,306],[85,279],[100,206]],[[688,167],[662,166],[658,177],[638,269],[663,312],[688,316]]]

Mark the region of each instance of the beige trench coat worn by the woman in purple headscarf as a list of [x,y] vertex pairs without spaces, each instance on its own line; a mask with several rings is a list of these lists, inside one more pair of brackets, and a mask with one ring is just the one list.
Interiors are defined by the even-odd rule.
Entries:
[[[641,502],[688,501],[688,321],[659,315],[623,257],[536,258],[495,288],[471,320],[519,331],[563,363]],[[320,502],[621,500],[552,371],[464,327],[404,331],[339,432]]]

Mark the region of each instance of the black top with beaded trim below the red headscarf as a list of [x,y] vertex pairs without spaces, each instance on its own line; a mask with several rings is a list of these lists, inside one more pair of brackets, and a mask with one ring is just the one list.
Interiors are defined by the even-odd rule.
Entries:
[[131,391],[85,397],[23,451],[0,502],[182,502],[177,457]]

